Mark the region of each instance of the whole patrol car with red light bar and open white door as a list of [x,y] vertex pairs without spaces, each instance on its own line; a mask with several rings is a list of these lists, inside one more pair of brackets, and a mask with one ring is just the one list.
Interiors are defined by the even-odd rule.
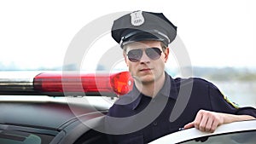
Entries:
[[[132,88],[129,72],[0,72],[1,144],[107,143],[102,119]],[[255,143],[256,121],[181,130],[151,144]]]

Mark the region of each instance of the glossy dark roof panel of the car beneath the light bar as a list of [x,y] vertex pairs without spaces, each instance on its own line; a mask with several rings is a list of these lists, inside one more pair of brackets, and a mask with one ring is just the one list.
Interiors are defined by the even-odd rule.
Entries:
[[107,112],[108,107],[56,101],[0,101],[0,109],[0,124],[60,130],[63,124],[71,123],[85,114]]

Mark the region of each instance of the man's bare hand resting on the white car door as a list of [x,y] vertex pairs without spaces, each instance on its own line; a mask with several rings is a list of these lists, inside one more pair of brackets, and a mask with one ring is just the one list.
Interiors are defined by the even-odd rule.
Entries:
[[184,129],[195,127],[201,131],[214,132],[220,124],[224,124],[222,113],[200,110],[197,112],[195,120],[186,124]]

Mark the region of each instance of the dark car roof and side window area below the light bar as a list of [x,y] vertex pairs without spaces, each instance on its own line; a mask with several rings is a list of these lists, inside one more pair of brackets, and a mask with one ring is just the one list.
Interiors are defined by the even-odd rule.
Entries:
[[[1,101],[0,108],[0,143],[6,144],[80,143],[80,137],[83,142],[99,143],[102,135],[91,125],[101,124],[98,118],[108,112],[108,107],[95,110],[60,101]],[[93,122],[91,127],[85,124],[89,120]]]

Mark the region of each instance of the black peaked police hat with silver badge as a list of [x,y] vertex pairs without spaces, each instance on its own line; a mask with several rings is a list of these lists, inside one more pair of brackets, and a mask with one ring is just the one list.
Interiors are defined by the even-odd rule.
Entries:
[[113,21],[112,37],[121,48],[127,43],[157,40],[172,43],[177,27],[162,13],[135,11]]

